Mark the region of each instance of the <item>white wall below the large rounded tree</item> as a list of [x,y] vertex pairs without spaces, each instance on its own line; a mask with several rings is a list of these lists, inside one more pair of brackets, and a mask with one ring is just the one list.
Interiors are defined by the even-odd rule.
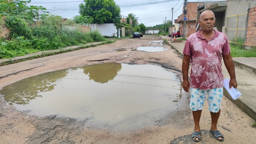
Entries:
[[92,31],[98,30],[102,36],[113,36],[113,33],[117,34],[114,24],[90,24],[89,26]]

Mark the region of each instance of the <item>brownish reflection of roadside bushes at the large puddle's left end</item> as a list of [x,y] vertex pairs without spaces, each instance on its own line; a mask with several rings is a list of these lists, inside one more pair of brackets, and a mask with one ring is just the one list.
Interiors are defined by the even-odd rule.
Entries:
[[60,78],[65,77],[66,70],[59,70],[54,72],[48,72],[20,80],[19,82],[10,84],[4,87],[0,93],[4,95],[4,98],[8,104],[29,104],[30,100],[36,97],[42,97],[40,92],[47,92],[54,89],[54,82]]

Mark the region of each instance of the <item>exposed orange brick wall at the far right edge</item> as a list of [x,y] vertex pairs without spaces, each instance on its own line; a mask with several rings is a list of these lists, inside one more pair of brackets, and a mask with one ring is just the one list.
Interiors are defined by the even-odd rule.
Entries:
[[256,46],[256,7],[249,9],[248,16],[249,18],[245,45]]

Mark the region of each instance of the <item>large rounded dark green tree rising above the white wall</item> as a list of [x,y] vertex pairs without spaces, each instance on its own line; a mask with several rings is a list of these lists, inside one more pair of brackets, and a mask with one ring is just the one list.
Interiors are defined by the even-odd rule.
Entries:
[[90,16],[95,24],[120,23],[121,9],[114,0],[84,0],[79,5],[81,16]]

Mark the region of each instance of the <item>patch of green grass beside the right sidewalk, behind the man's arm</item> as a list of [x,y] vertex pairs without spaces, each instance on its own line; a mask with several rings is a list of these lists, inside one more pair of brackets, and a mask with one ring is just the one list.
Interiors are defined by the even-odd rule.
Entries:
[[240,44],[234,44],[230,43],[231,48],[231,55],[233,58],[235,57],[245,57],[245,58],[251,58],[256,57],[256,48],[252,49],[244,49]]

